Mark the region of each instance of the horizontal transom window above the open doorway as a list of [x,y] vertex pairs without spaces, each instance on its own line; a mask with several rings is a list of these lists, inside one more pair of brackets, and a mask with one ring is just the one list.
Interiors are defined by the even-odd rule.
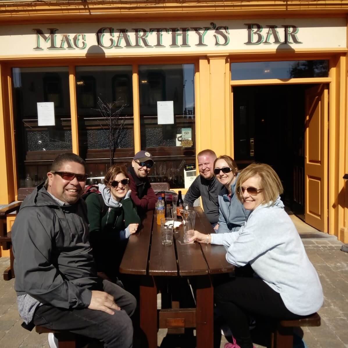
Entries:
[[231,63],[232,80],[328,77],[327,60]]

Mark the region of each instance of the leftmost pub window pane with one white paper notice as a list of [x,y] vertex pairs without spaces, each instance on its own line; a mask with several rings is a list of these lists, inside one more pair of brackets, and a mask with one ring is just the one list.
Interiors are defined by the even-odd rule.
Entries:
[[[13,68],[12,76],[18,199],[23,199],[46,180],[57,155],[72,151],[69,70]],[[53,110],[45,118],[38,103],[47,102]]]

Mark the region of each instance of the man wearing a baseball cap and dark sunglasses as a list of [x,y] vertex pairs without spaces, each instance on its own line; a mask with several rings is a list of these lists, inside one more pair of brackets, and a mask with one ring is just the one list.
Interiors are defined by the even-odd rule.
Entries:
[[138,208],[139,216],[144,215],[148,210],[155,209],[157,197],[147,177],[153,165],[151,153],[142,150],[135,154],[132,165],[128,167],[131,177],[131,197]]

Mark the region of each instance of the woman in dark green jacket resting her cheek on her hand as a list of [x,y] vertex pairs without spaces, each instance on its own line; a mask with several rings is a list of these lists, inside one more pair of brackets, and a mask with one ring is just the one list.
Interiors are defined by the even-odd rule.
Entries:
[[86,198],[97,270],[111,279],[117,277],[127,240],[140,224],[129,180],[126,167],[113,165],[105,175],[105,184],[98,185],[101,193],[90,193]]

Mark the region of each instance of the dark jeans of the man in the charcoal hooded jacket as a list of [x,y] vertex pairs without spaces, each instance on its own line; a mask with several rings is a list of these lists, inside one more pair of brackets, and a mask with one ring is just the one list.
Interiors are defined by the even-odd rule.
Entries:
[[95,338],[102,341],[107,348],[132,347],[133,326],[130,316],[136,309],[136,299],[122,287],[108,280],[103,280],[102,290],[113,295],[121,308],[115,310],[114,315],[88,308],[65,309],[43,304],[35,311],[34,324]]

